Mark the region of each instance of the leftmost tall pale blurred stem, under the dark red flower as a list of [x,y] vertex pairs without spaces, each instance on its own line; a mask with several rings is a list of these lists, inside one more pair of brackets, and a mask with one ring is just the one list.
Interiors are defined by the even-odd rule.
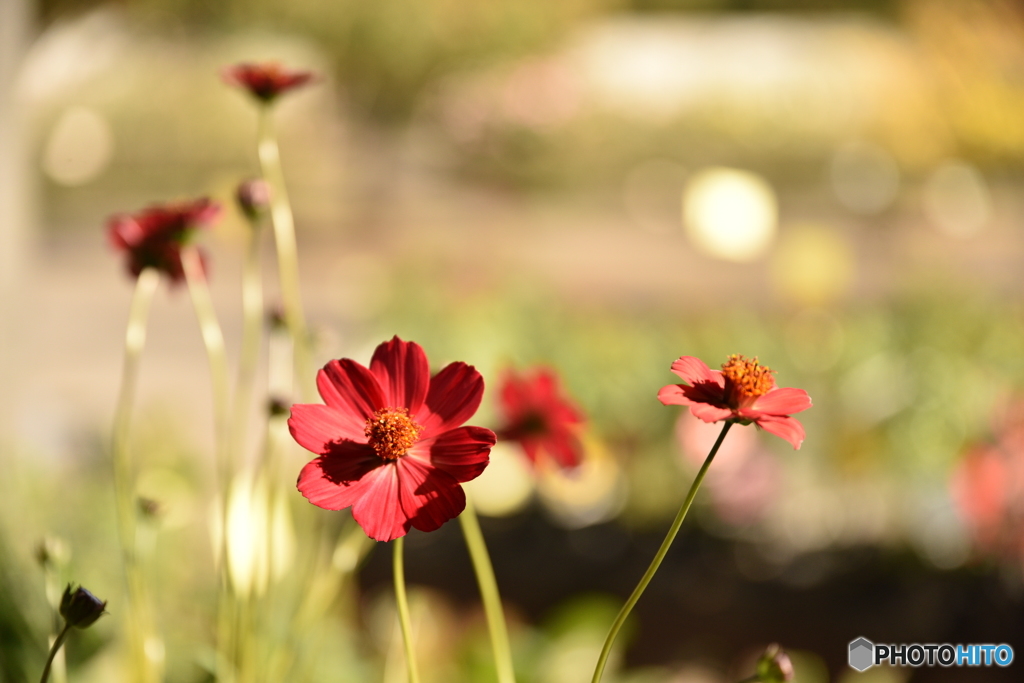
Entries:
[[138,383],[138,365],[145,347],[146,322],[160,272],[145,268],[135,280],[135,291],[128,311],[125,332],[125,354],[121,370],[121,389],[114,416],[112,450],[114,459],[114,492],[117,501],[118,539],[127,584],[127,621],[130,651],[135,676],[140,681],[156,681],[154,663],[145,653],[145,641],[151,635],[147,606],[144,604],[142,575],[135,549],[135,482],[128,449],[132,408]]

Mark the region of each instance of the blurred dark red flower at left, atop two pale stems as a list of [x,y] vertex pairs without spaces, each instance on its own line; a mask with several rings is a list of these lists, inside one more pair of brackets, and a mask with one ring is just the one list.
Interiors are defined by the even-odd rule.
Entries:
[[219,213],[220,206],[207,198],[154,205],[136,214],[112,217],[106,230],[111,244],[127,255],[132,275],[138,278],[144,268],[156,268],[176,284],[184,279],[182,245]]

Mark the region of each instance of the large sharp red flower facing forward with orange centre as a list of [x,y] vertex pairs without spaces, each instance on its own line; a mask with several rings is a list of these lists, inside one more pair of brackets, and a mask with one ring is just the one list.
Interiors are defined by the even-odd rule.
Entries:
[[351,506],[376,541],[432,531],[465,509],[459,484],[479,476],[496,440],[489,429],[461,426],[483,396],[476,369],[453,362],[431,377],[420,345],[395,337],[369,369],[327,364],[316,388],[327,404],[293,405],[288,420],[295,440],[319,456],[299,473],[310,503]]

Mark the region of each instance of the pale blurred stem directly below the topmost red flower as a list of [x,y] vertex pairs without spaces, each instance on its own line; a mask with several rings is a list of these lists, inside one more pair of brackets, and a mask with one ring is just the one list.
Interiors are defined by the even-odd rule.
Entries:
[[270,186],[270,222],[278,248],[278,275],[281,295],[285,304],[285,323],[295,343],[295,372],[301,382],[302,395],[310,400],[315,396],[313,374],[309,359],[309,336],[302,312],[299,288],[299,256],[295,242],[295,219],[288,201],[285,172],[281,166],[281,152],[267,105],[259,111],[258,154],[263,180]]

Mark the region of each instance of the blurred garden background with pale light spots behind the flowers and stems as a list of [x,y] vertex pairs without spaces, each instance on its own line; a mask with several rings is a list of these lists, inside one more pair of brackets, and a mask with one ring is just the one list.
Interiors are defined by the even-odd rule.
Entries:
[[[656,392],[729,353],[808,390],[807,440],[730,433],[608,680],[735,681],[772,641],[802,683],[1019,680],[846,665],[858,636],[1024,652],[1019,3],[0,0],[0,681],[38,675],[47,590],[122,591],[108,216],[227,205],[203,245],[238,347],[256,115],[219,73],[266,59],[317,74],[274,113],[317,362],[398,334],[490,387],[553,367],[588,415],[574,475],[500,444],[471,486],[523,681],[590,680],[717,433]],[[211,680],[208,382],[164,289],[135,451],[175,683]],[[301,546],[332,513],[295,499]],[[403,680],[368,550],[309,680]],[[407,571],[427,680],[490,680],[458,525],[411,535]],[[73,639],[72,680],[120,680],[116,625]]]

